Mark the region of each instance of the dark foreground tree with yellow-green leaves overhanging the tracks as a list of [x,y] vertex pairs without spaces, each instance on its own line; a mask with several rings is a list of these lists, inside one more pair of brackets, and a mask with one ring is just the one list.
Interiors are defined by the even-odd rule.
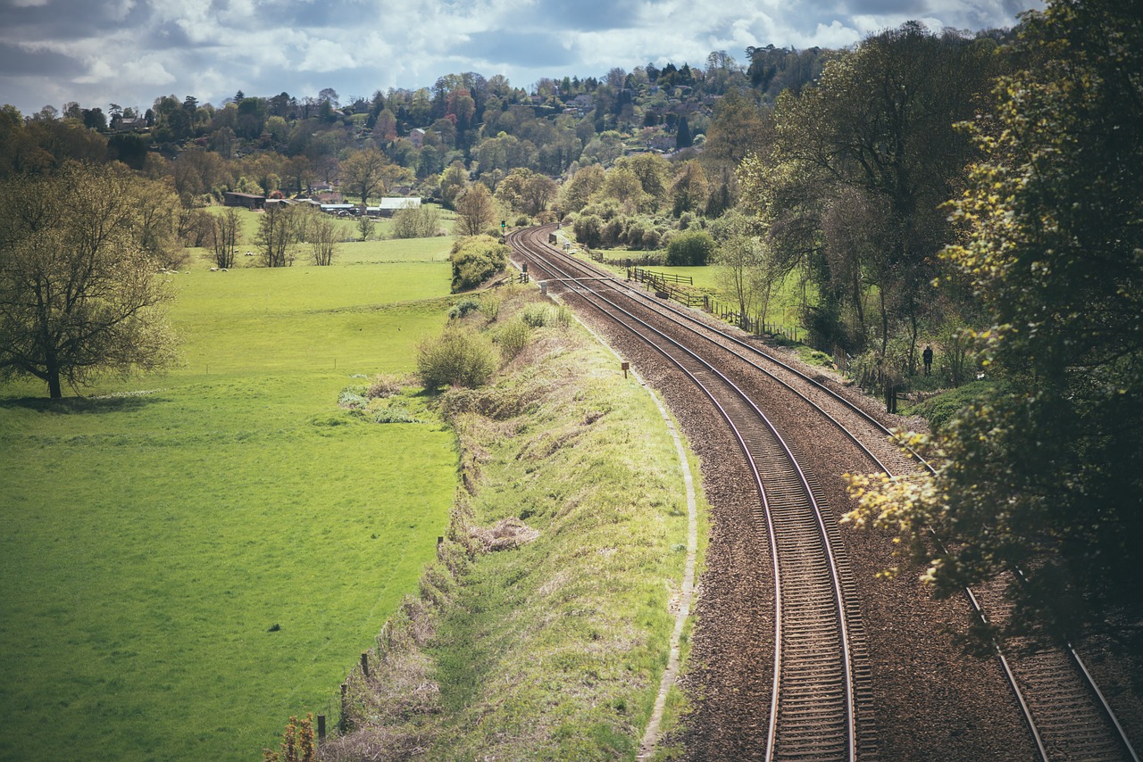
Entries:
[[[917,438],[935,476],[856,480],[854,519],[900,531],[943,594],[1018,566],[1001,635],[1137,639],[1143,22],[1053,0],[1018,49],[1028,67],[977,122],[986,155],[954,207],[968,238],[945,255],[991,314],[977,338],[997,391]],[[948,544],[935,558],[926,526]]]

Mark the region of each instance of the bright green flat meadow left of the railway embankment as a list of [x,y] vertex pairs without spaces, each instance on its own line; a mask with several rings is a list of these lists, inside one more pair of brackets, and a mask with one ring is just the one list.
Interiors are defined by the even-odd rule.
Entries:
[[182,367],[57,404],[0,386],[0,759],[259,759],[291,714],[336,721],[457,473],[415,390],[409,424],[337,398],[414,369],[449,243],[230,272],[197,252],[169,276]]

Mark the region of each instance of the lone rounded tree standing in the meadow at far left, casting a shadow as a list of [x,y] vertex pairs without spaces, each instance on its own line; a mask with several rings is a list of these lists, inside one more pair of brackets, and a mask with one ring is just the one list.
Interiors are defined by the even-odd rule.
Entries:
[[51,399],[107,372],[175,361],[170,292],[139,240],[121,165],[69,163],[0,195],[0,377],[33,376]]

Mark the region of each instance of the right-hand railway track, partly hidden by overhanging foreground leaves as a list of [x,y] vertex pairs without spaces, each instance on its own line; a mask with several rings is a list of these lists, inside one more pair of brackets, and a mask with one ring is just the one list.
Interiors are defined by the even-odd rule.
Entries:
[[[541,233],[546,233],[550,227],[539,228]],[[668,316],[679,328],[704,338],[711,344],[730,353],[741,361],[744,361],[786,387],[792,393],[807,402],[810,407],[837,426],[878,468],[893,475],[893,471],[873,454],[854,434],[849,427],[838,420],[834,416],[825,411],[820,404],[810,400],[801,391],[794,388],[792,384],[769,369],[759,366],[750,358],[761,358],[767,363],[781,367],[800,382],[810,385],[820,392],[845,408],[856,414],[865,424],[872,427],[879,435],[892,439],[893,433],[853,401],[829,388],[797,368],[793,368],[781,359],[761,351],[753,344],[743,342],[741,338],[727,334],[709,323],[697,320],[688,311],[666,304],[661,299],[653,298],[641,288],[637,288],[610,276],[606,271],[601,271],[582,259],[566,255],[551,247],[542,248],[544,256],[555,257],[568,263],[578,270],[592,273],[591,278],[606,283],[607,287],[616,291],[622,291],[638,302],[646,305],[654,305],[660,315]],[[568,273],[562,273],[561,278],[567,278]],[[698,326],[700,328],[695,328]],[[711,338],[710,334],[718,336]],[[743,350],[746,356],[735,348],[726,346],[729,343],[733,347]],[[918,454],[912,456],[928,471],[934,472],[930,464],[924,460]],[[940,545],[940,539],[933,536],[934,543]],[[1022,575],[1017,569],[1017,575]],[[977,595],[969,588],[965,588],[966,597],[976,611],[977,616],[988,621],[988,615],[981,604]],[[1020,705],[1029,731],[1036,743],[1038,753],[1045,762],[1053,760],[1132,760],[1140,762],[1130,739],[1119,723],[1118,719],[1103,692],[1100,690],[1090,672],[1084,664],[1079,653],[1071,643],[1065,643],[1060,650],[1040,650],[1031,656],[1021,658],[1009,658],[996,647],[997,656],[1002,671],[1009,682],[1010,688]],[[1022,688],[1023,685],[1023,688]]]

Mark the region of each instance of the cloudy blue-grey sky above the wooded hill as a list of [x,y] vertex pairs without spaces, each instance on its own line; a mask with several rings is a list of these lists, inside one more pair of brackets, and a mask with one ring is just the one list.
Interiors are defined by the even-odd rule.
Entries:
[[342,101],[474,71],[528,87],[748,46],[840,48],[909,19],[1012,26],[1039,0],[0,0],[0,104]]

